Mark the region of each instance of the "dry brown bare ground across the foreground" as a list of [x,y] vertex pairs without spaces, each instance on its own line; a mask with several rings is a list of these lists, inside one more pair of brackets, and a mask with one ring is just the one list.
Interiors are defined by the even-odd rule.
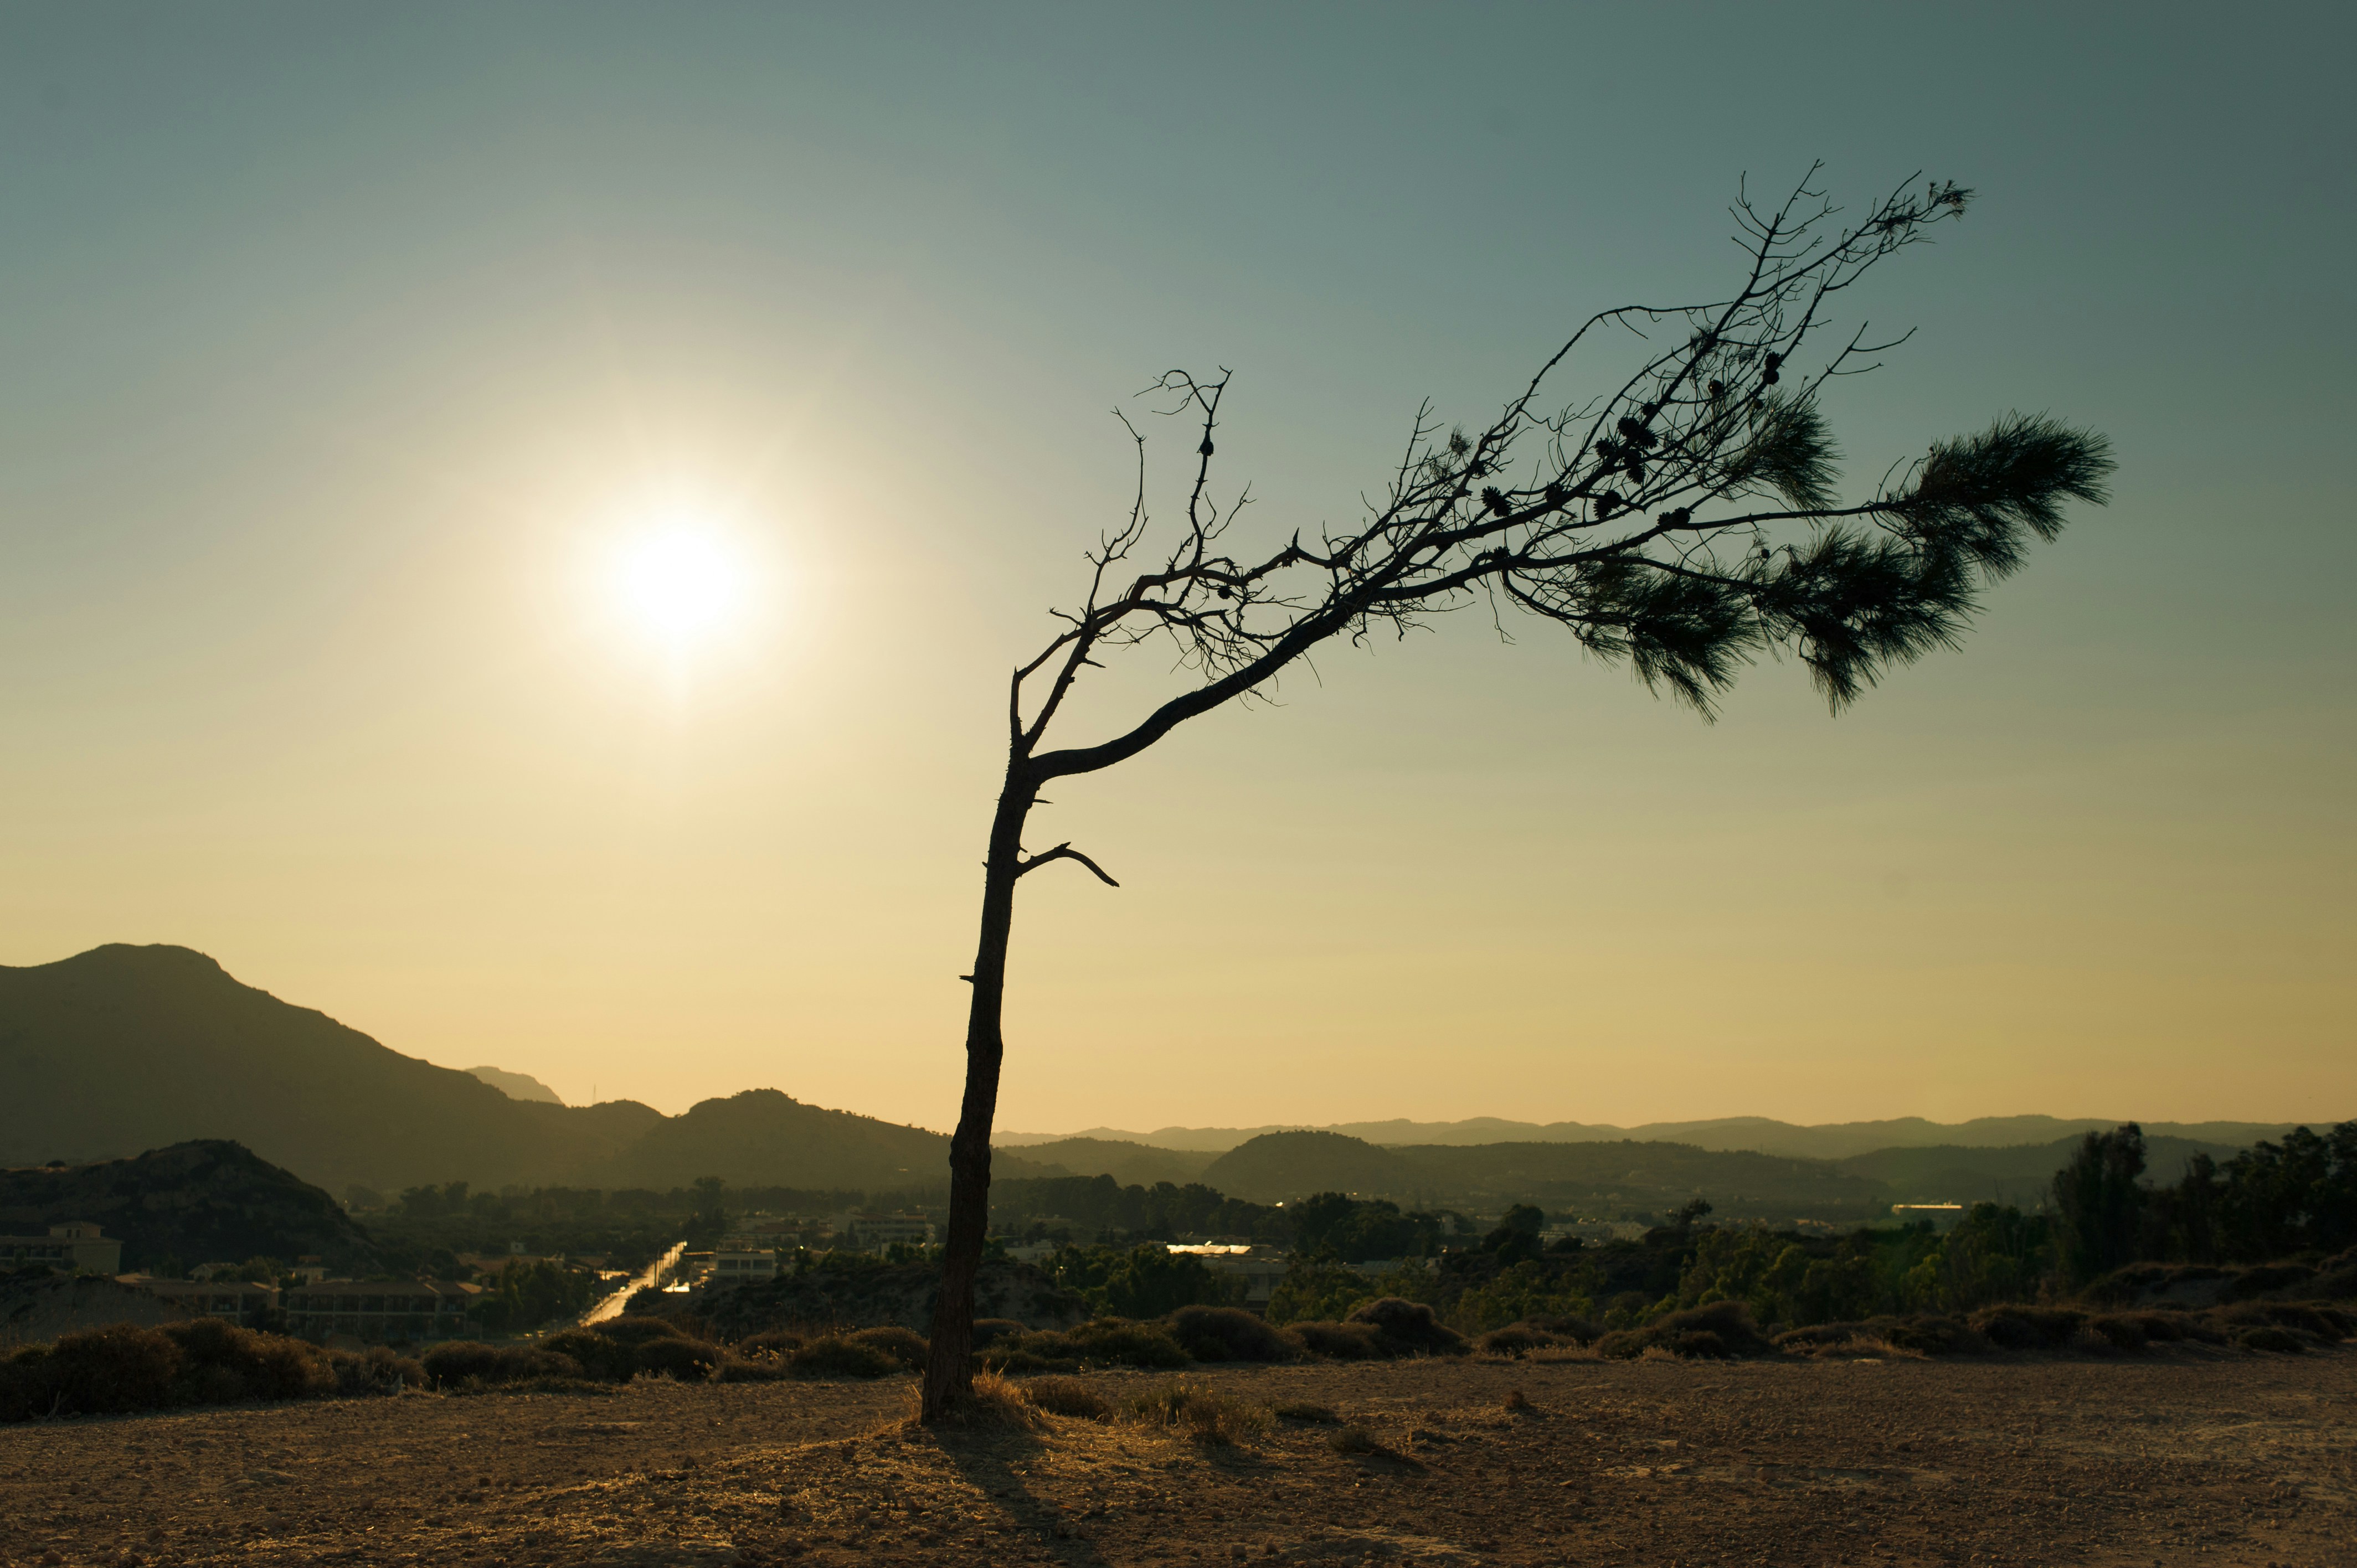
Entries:
[[2357,1563],[2357,1349],[1202,1377],[1395,1457],[945,1443],[907,1379],[410,1394],[0,1429],[0,1561]]

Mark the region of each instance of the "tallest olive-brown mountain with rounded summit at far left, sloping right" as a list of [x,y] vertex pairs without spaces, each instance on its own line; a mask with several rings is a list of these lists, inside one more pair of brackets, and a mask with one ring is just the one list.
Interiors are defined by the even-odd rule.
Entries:
[[342,1191],[549,1181],[639,1139],[634,1101],[516,1101],[229,979],[189,948],[0,967],[0,1165],[236,1139]]

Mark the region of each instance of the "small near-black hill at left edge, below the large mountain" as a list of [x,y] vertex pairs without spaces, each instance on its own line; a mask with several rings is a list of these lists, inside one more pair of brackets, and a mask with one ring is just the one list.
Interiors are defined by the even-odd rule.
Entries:
[[368,1231],[335,1198],[222,1139],[101,1165],[0,1170],[0,1228],[47,1228],[68,1219],[90,1219],[123,1238],[127,1273],[313,1254],[356,1276],[382,1266]]

